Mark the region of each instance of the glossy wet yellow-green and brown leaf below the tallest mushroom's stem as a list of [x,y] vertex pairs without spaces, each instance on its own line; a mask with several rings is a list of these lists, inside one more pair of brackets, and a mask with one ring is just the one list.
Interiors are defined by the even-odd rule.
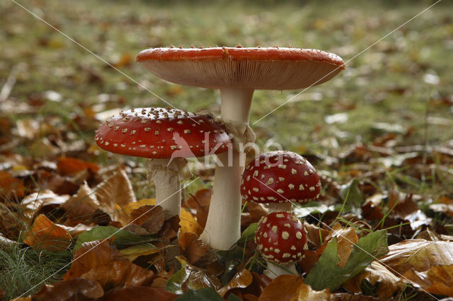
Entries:
[[218,290],[222,286],[216,276],[189,264],[183,256],[178,256],[176,259],[182,268],[168,280],[166,285],[168,292],[180,295],[188,290],[199,290],[200,288]]

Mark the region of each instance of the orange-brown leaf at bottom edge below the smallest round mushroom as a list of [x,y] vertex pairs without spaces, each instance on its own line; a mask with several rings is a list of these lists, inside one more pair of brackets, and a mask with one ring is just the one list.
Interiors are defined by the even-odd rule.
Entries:
[[299,286],[304,283],[302,277],[293,275],[278,276],[266,286],[259,297],[259,301],[286,301],[294,300],[298,296]]

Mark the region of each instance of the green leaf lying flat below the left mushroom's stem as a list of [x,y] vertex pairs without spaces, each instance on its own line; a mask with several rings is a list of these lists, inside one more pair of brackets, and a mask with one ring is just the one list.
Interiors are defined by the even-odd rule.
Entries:
[[81,245],[84,242],[92,242],[93,240],[104,240],[109,237],[115,237],[113,242],[116,244],[116,247],[118,249],[130,247],[131,245],[134,244],[141,244],[144,242],[151,242],[152,240],[158,240],[156,235],[140,236],[127,230],[118,229],[112,226],[108,227],[99,226],[79,235],[79,238],[77,239],[73,252],[75,252],[76,249],[79,249],[79,247],[81,247]]

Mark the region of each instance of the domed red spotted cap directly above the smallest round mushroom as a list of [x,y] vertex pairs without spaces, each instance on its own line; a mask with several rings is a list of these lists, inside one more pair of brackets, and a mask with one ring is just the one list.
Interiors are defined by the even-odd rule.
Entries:
[[313,165],[289,151],[262,153],[246,166],[241,180],[243,199],[256,203],[306,203],[320,191]]

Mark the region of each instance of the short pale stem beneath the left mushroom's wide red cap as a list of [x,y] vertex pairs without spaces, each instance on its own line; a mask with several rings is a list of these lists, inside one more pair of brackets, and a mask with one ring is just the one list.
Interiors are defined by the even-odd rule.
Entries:
[[148,178],[156,187],[156,205],[170,216],[180,216],[181,180],[188,175],[184,158],[148,160]]

